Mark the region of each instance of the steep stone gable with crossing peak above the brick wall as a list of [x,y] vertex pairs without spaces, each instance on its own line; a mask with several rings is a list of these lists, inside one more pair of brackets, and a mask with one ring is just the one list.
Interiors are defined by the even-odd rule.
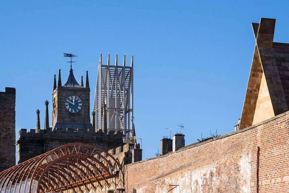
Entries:
[[256,44],[239,129],[288,111],[289,43],[273,42],[275,21],[252,23]]

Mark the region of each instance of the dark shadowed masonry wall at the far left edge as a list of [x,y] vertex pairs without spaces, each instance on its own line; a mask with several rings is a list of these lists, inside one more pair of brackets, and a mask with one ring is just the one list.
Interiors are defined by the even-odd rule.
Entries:
[[15,165],[15,88],[0,92],[0,171]]

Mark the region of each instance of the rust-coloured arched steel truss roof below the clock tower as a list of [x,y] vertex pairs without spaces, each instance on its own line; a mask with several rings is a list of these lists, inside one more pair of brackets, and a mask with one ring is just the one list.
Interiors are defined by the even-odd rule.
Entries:
[[67,144],[0,172],[0,193],[89,192],[119,184],[119,162],[89,144]]

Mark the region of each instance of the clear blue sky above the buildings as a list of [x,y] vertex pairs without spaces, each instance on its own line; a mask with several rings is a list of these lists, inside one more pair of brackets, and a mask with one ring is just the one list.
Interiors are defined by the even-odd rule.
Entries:
[[[260,5],[261,4],[261,5]],[[275,42],[289,42],[287,1],[1,1],[0,91],[16,88],[21,128],[44,126],[53,75],[78,55],[74,75],[89,72],[91,111],[100,52],[134,55],[134,115],[143,159],[185,125],[186,145],[234,131],[240,118],[255,40],[251,22],[275,18]],[[49,106],[51,114],[51,103]],[[51,116],[50,116],[51,121]]]

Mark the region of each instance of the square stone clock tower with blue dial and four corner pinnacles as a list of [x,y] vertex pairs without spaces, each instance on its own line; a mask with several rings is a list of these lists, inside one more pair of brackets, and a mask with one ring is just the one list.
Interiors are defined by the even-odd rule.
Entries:
[[86,71],[85,86],[81,76],[81,84],[78,84],[70,68],[68,78],[64,85],[61,84],[60,70],[58,84],[54,75],[52,92],[52,131],[56,128],[73,128],[74,131],[81,128],[85,132],[92,129],[90,122],[90,88],[88,71]]

